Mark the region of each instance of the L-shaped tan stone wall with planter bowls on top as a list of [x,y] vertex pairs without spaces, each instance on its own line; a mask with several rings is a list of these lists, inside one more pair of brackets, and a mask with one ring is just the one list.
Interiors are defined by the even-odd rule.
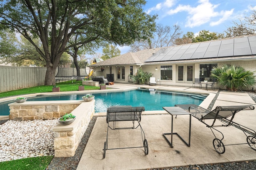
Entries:
[[76,120],[70,125],[56,125],[54,133],[54,156],[74,156],[76,149],[94,114],[95,100],[31,101],[12,103],[9,118],[12,120],[54,119],[72,112]]

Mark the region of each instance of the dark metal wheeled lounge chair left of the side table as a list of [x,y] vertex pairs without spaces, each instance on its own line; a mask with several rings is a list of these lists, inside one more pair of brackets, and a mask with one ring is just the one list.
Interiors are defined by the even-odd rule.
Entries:
[[[141,113],[142,111],[145,111],[144,107],[132,107],[132,106],[111,106],[107,108],[107,123],[108,123],[108,129],[116,130],[116,129],[136,129],[140,126],[141,129],[141,135],[142,135],[142,143],[143,148],[145,151],[145,154],[148,154],[148,141],[145,137],[145,133],[140,125],[141,120]],[[131,121],[132,126],[131,127],[116,127],[117,121]],[[134,123],[138,122],[138,125],[134,125]],[[110,122],[113,122],[112,125],[110,125]],[[112,148],[112,149],[128,149],[128,148],[142,148],[142,147],[124,147],[124,148]],[[104,143],[104,152],[103,152],[103,158],[106,156],[106,150],[108,149],[108,130],[107,130],[107,138],[106,142]]]

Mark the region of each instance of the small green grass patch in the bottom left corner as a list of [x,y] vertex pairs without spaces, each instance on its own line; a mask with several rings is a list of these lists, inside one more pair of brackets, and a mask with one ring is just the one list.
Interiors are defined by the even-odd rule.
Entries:
[[0,162],[1,170],[45,170],[54,156],[40,156]]

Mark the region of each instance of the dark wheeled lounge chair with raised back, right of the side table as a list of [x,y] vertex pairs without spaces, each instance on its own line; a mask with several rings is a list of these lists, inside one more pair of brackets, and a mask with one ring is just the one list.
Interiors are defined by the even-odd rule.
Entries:
[[[224,139],[224,135],[216,129],[216,127],[228,127],[230,125],[236,125],[236,127],[239,127],[238,129],[242,130],[244,134],[246,135],[246,141],[247,143],[239,143],[239,144],[230,144],[230,145],[241,145],[241,144],[248,144],[252,149],[256,150],[256,132],[252,129],[249,129],[248,127],[242,126],[238,123],[235,123],[233,121],[234,116],[236,113],[242,110],[253,110],[254,106],[248,105],[248,106],[217,106],[214,110],[209,111],[207,109],[204,109],[203,107],[194,105],[194,104],[185,104],[185,105],[175,105],[178,106],[189,113],[191,113],[192,116],[194,116],[196,119],[201,121],[206,125],[206,127],[209,127],[215,137],[213,139],[213,147],[214,149],[220,153],[223,154],[225,152],[224,144],[222,143],[222,140]],[[206,120],[212,120],[212,121],[206,121]],[[215,125],[216,121],[220,121],[219,125]],[[207,122],[207,123],[206,123]],[[222,139],[217,139],[216,135],[214,134],[213,130],[218,131],[222,135]],[[250,135],[248,135],[250,134]],[[228,146],[228,145],[226,145]]]

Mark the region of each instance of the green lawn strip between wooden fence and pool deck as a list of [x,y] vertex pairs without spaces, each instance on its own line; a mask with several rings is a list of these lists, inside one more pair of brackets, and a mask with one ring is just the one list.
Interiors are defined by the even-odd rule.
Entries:
[[[73,81],[72,83],[71,81],[68,81],[68,82],[57,83],[56,85],[60,86],[60,92],[78,91],[78,86],[82,85],[82,82]],[[100,87],[84,85],[84,90],[99,90],[99,89]],[[45,93],[45,92],[52,92],[52,86],[35,86],[30,88],[23,88],[19,90],[2,92],[0,93],[0,98],[17,96],[22,94]]]

